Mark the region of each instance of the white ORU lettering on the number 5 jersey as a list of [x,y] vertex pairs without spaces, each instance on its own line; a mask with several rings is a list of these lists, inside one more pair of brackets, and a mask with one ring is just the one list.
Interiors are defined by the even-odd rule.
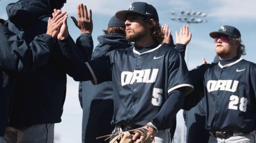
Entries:
[[144,83],[154,83],[159,69],[143,69],[123,71],[121,73],[121,84],[122,86],[126,84],[133,84],[134,82],[144,82]]

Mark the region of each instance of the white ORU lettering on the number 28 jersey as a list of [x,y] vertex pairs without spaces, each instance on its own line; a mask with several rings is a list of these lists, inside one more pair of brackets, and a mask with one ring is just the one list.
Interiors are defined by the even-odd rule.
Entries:
[[218,80],[218,81],[210,80],[207,82],[207,90],[209,93],[211,91],[217,91],[217,90],[230,91],[234,93],[235,91],[237,91],[238,83],[239,81],[233,81],[233,80]]

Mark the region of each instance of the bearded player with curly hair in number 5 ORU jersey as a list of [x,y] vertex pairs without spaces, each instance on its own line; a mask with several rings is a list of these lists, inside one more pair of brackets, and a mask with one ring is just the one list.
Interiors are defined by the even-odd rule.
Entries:
[[[134,2],[116,17],[126,20],[126,39],[134,47],[112,50],[85,64],[77,61],[81,73],[74,79],[93,84],[112,81],[114,131],[142,127],[156,135],[156,143],[168,143],[169,122],[182,107],[185,94],[193,90],[187,66],[176,49],[161,44],[164,36],[152,5]],[[188,30],[182,30],[180,36],[189,39]],[[136,133],[132,140],[138,138],[143,136]]]

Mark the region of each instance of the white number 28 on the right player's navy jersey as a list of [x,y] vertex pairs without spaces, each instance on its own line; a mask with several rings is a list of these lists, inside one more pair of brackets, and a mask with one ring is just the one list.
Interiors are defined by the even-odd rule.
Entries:
[[[238,108],[237,104],[239,103],[239,97],[235,96],[235,95],[232,95],[232,96],[230,96],[229,99],[230,99],[230,102],[228,104],[228,109],[237,110],[237,108]],[[247,98],[242,97],[240,99],[240,105],[239,105],[240,111],[246,112],[247,103],[248,103]]]

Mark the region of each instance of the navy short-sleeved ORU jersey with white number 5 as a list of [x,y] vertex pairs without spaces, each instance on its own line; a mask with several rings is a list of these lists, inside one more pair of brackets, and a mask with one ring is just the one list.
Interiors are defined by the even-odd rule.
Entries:
[[[94,84],[113,83],[112,124],[144,126],[160,111],[168,93],[181,87],[185,94],[193,90],[185,61],[176,49],[166,45],[154,44],[142,53],[134,47],[113,50],[86,65]],[[167,122],[162,126],[169,128]]]

